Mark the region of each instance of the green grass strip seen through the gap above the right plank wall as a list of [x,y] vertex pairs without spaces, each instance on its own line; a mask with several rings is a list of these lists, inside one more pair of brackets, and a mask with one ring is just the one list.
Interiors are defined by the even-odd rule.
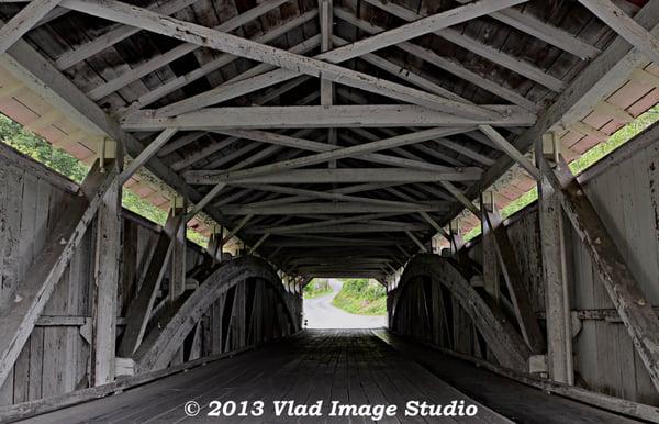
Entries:
[[[627,143],[645,129],[657,122],[659,119],[659,105],[654,107],[641,115],[637,116],[633,122],[627,125],[621,127],[613,135],[608,137],[608,140],[604,143],[600,143],[599,145],[592,147],[580,158],[573,160],[570,164],[570,170],[576,176],[583,172],[591,166],[595,165],[606,155]],[[526,208],[530,203],[535,202],[538,199],[538,190],[537,188],[533,188],[528,190],[526,193],[522,194],[517,199],[510,202],[505,208],[501,210],[501,216],[503,219],[513,215],[514,213],[521,211]],[[481,233],[481,227],[476,226],[470,232],[465,235],[465,241],[468,242],[473,237],[478,236]]]

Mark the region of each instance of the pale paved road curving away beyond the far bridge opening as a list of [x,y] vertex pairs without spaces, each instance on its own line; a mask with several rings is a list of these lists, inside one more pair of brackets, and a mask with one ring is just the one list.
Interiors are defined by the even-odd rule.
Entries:
[[330,279],[332,293],[304,300],[304,319],[308,328],[379,328],[387,325],[387,316],[355,315],[332,304],[343,282]]

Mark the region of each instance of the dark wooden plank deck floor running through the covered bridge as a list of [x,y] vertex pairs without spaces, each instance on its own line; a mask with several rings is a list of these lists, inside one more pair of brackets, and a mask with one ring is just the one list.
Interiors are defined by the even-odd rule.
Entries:
[[[382,334],[381,334],[382,336]],[[387,337],[384,337],[387,338]],[[219,360],[188,372],[170,376],[96,401],[55,411],[30,420],[34,423],[77,422],[249,422],[249,423],[371,423],[370,417],[328,416],[331,402],[342,404],[396,404],[393,417],[380,422],[625,422],[624,419],[562,398],[550,397],[509,380],[498,381],[490,372],[455,362],[444,369],[424,360],[431,350],[389,338],[384,343],[372,331],[308,331],[231,359]],[[449,364],[449,362],[445,362]],[[435,364],[436,365],[436,364]],[[461,367],[461,368],[460,368]],[[447,372],[466,373],[463,392],[442,378]],[[453,372],[453,376],[450,375]],[[478,389],[482,382],[482,392]],[[489,390],[485,384],[492,383]],[[499,384],[499,386],[496,386]],[[472,397],[465,394],[472,392]],[[494,393],[493,393],[494,392]],[[502,392],[496,395],[496,392]],[[483,394],[484,393],[484,394]],[[479,403],[474,398],[482,399]],[[507,399],[507,401],[506,401]],[[208,416],[209,403],[263,401],[263,416]],[[273,401],[293,400],[311,405],[323,400],[323,416],[276,416]],[[445,405],[453,400],[478,406],[474,417],[405,416],[407,401]],[[202,409],[196,417],[183,405],[196,401]],[[491,403],[492,409],[484,403]],[[498,410],[499,412],[494,412]],[[520,411],[517,413],[517,411]],[[236,412],[237,413],[237,412]],[[567,420],[567,421],[566,421]]]

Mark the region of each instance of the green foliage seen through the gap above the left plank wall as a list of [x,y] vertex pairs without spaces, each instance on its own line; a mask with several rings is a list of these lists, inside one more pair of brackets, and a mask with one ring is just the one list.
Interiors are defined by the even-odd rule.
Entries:
[[[25,131],[21,124],[2,114],[0,114],[0,141],[78,183],[82,182],[89,172],[87,165],[67,152],[54,147],[42,137]],[[167,212],[130,190],[123,190],[122,204],[125,209],[156,224],[164,225],[167,221]],[[188,230],[188,238],[200,246],[208,245],[208,238],[194,231]]]

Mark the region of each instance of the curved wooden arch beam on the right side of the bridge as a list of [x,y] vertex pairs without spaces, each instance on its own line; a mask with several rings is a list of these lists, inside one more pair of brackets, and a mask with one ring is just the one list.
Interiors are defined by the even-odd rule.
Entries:
[[509,321],[495,314],[455,265],[442,256],[421,254],[410,260],[401,276],[399,288],[393,293],[392,324],[405,286],[422,276],[429,277],[433,283],[442,283],[450,290],[502,366],[527,371],[530,350],[520,334]]

